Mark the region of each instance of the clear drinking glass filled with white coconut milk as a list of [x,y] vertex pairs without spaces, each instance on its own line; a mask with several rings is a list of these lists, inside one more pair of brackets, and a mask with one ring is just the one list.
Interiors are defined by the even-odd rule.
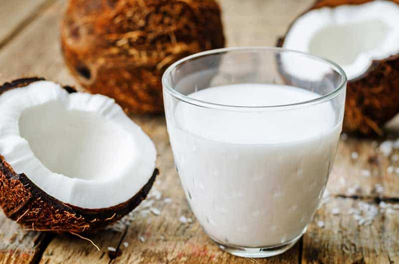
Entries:
[[163,76],[176,169],[200,225],[236,256],[274,256],[306,231],[344,115],[333,62],[266,47],[210,50]]

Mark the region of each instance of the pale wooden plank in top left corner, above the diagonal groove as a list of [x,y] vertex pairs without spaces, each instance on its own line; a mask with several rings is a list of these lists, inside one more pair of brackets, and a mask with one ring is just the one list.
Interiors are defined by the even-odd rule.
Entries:
[[0,47],[23,29],[53,0],[1,0]]

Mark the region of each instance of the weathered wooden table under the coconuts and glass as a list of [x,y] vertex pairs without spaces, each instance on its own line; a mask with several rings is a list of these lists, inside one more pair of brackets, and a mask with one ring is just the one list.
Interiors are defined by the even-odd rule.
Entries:
[[[220,0],[228,46],[273,45],[312,1]],[[1,82],[39,75],[75,85],[59,47],[58,22],[64,6],[64,0],[0,0]],[[174,168],[164,117],[132,118],[158,150],[161,175],[155,187],[162,198],[155,199],[155,206],[161,215],[144,216],[140,209],[134,221],[91,235],[97,251],[71,235],[24,231],[1,213],[0,263],[399,264],[399,174],[387,171],[399,163],[376,148],[379,142],[341,140],[328,183],[330,197],[303,238],[281,256],[242,259],[219,251],[196,222]],[[353,152],[359,157],[351,158]],[[173,201],[165,203],[165,197]],[[386,208],[385,203],[395,208]],[[371,215],[366,215],[366,223],[360,213]],[[181,223],[182,215],[193,223]],[[108,247],[117,249],[116,258],[109,257]]]

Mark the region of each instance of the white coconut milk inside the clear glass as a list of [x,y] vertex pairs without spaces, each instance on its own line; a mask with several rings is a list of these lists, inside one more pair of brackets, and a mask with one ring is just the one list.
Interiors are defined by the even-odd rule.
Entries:
[[[288,86],[240,84],[191,97],[266,106],[319,95]],[[320,202],[341,132],[342,121],[336,121],[330,102],[258,113],[178,103],[172,115],[168,130],[179,175],[192,210],[212,238],[266,247],[302,234]]]

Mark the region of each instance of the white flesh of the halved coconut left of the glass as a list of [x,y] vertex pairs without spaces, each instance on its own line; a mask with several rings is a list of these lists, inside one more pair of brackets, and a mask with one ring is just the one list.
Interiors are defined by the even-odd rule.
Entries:
[[132,198],[156,160],[151,139],[114,100],[48,81],[0,96],[0,154],[49,195],[88,209]]

